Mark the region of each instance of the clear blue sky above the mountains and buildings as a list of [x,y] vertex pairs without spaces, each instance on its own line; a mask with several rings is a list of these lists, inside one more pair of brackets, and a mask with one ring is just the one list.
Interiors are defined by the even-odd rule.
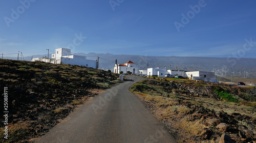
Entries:
[[0,0],[0,53],[27,56],[61,47],[256,58],[256,1]]

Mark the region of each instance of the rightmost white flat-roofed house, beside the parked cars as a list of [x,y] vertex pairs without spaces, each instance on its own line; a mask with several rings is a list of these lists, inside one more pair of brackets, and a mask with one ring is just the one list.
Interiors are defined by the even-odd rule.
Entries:
[[215,73],[214,72],[204,72],[204,71],[193,71],[186,72],[186,77],[189,79],[201,79],[204,81],[215,81]]

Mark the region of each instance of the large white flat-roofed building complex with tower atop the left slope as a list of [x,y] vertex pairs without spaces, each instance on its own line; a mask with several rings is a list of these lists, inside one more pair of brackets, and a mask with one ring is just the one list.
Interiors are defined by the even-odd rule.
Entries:
[[[48,63],[48,59],[46,58],[34,58],[32,61],[42,61]],[[55,53],[53,53],[51,58],[49,58],[49,63],[79,65],[95,69],[97,68],[96,60],[87,60],[86,56],[71,54],[71,49],[67,48],[55,49]]]

